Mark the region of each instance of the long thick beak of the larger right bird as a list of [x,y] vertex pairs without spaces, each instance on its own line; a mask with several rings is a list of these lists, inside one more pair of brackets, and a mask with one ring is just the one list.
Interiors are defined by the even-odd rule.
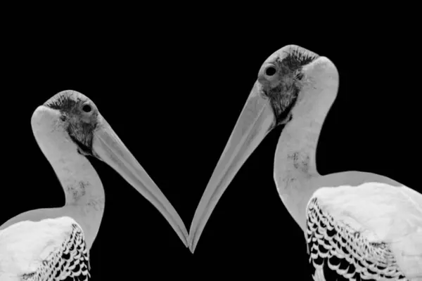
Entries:
[[257,81],[193,216],[189,231],[189,249],[192,253],[224,190],[246,159],[273,128],[274,122],[275,117],[269,100],[262,96],[261,85]]

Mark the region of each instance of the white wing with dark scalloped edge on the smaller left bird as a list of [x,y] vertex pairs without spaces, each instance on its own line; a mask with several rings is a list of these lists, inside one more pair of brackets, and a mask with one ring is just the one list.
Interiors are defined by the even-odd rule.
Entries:
[[89,251],[72,218],[20,221],[0,231],[0,281],[88,277]]

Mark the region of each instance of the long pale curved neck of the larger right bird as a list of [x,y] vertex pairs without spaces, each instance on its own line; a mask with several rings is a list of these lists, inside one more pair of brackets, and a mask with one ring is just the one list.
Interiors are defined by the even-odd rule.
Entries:
[[302,230],[306,229],[307,203],[319,188],[311,184],[319,176],[316,169],[319,133],[338,89],[337,70],[328,69],[324,63],[323,60],[308,70],[313,83],[304,85],[293,117],[281,133],[274,159],[274,181],[279,195]]

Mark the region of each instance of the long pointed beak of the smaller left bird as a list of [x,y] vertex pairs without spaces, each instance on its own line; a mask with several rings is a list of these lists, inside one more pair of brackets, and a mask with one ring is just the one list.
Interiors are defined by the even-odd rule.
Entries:
[[94,133],[93,150],[160,211],[187,247],[188,233],[179,214],[102,117]]

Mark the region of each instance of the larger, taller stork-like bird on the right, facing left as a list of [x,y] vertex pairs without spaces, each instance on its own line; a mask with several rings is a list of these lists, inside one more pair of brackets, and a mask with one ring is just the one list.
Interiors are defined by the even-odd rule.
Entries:
[[303,231],[312,279],[422,280],[421,193],[378,174],[316,169],[316,145],[338,85],[331,60],[297,45],[264,61],[193,216],[192,253],[236,173],[283,125],[274,182]]

